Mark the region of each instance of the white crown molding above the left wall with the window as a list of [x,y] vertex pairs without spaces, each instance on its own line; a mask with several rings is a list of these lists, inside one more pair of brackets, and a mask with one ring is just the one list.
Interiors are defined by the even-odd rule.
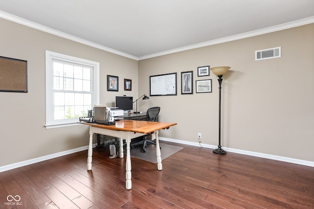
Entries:
[[94,42],[87,41],[87,40],[82,39],[82,38],[78,38],[77,36],[73,36],[73,35],[70,35],[68,33],[64,33],[64,32],[61,32],[59,30],[52,29],[52,28],[47,27],[47,26],[42,25],[42,24],[38,24],[38,23],[34,23],[34,22],[31,22],[31,21],[28,21],[28,20],[26,20],[24,18],[20,18],[18,16],[9,14],[7,12],[3,12],[1,10],[0,10],[0,18],[9,20],[9,21],[12,21],[12,22],[15,22],[15,23],[23,24],[23,25],[26,25],[28,27],[31,27],[31,28],[34,28],[34,29],[37,29],[37,30],[41,30],[41,31],[44,31],[44,32],[47,32],[47,33],[50,33],[52,35],[56,35],[56,36],[59,36],[59,37],[65,38],[65,39],[69,39],[69,40],[78,42],[80,44],[84,44],[84,45],[87,45],[87,46],[92,46],[92,47],[95,47],[95,48],[98,48],[98,49],[101,49],[101,50],[104,50],[104,51],[107,51],[107,52],[110,52],[110,53],[113,53],[113,54],[117,54],[117,55],[120,55],[120,56],[123,56],[123,57],[127,57],[127,58],[130,58],[130,59],[133,59],[133,60],[138,60],[138,57],[133,56],[131,54],[127,54],[127,53],[124,53],[122,51],[118,51],[118,50],[115,50],[113,48],[109,48],[107,46],[103,46],[103,45],[100,45],[100,44],[96,44]]

